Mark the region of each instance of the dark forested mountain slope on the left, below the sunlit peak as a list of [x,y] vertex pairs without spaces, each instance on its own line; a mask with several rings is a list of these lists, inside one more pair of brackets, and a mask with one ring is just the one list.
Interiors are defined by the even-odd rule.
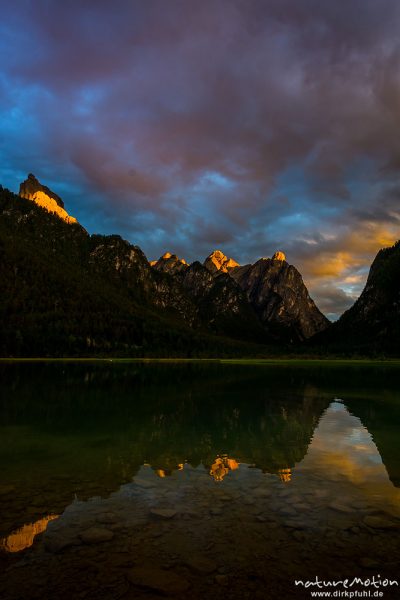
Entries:
[[[0,188],[2,356],[256,351],[227,339],[224,327],[215,338],[203,314],[181,282],[152,269],[137,246],[90,236],[35,198]],[[230,337],[255,339],[239,329]]]

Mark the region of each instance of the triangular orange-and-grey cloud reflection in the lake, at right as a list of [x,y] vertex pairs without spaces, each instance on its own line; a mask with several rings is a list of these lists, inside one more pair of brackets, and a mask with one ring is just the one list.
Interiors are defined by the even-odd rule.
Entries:
[[337,401],[322,415],[307,455],[296,469],[305,470],[319,472],[326,479],[344,477],[357,484],[390,483],[370,433]]

